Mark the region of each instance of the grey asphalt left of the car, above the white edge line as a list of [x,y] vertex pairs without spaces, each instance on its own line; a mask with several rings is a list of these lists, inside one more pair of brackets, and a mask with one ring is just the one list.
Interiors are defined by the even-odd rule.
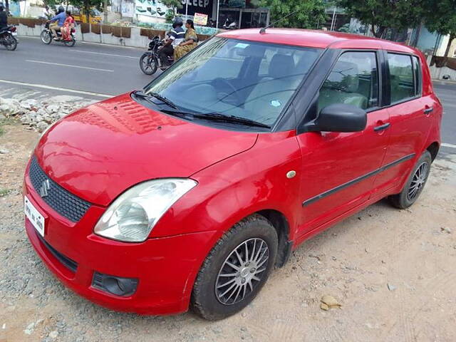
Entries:
[[0,48],[0,79],[117,95],[152,80],[139,68],[144,51],[83,42],[73,48],[61,43],[47,46],[38,38],[19,37],[16,51]]

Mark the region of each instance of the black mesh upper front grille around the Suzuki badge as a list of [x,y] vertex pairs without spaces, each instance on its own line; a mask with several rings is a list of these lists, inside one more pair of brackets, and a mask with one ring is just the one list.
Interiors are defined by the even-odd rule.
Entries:
[[[28,175],[36,192],[38,192],[38,195],[41,195],[41,199],[58,212],[58,214],[66,217],[71,222],[78,222],[86,214],[90,203],[73,195],[51,180],[41,169],[40,165],[38,165],[35,156],[32,157]],[[46,189],[47,195],[43,196],[41,192],[46,181],[48,182]]]

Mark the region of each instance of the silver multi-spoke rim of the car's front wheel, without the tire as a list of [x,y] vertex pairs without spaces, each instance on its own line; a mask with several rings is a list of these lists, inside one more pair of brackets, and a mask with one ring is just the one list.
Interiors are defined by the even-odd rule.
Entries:
[[215,296],[224,305],[237,304],[261,284],[269,264],[269,247],[263,239],[248,239],[225,259],[215,281]]

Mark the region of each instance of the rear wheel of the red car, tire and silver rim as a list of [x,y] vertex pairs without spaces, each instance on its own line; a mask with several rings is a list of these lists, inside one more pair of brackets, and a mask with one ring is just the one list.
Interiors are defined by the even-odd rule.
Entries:
[[397,195],[388,197],[394,207],[405,209],[417,201],[426,185],[427,177],[429,177],[431,163],[430,152],[425,151],[413,167],[403,190]]

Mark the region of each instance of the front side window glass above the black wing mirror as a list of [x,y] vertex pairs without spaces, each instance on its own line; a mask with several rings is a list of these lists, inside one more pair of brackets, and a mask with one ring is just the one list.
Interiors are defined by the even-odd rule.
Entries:
[[318,111],[336,103],[368,109],[378,106],[378,68],[375,52],[346,52],[321,86]]

